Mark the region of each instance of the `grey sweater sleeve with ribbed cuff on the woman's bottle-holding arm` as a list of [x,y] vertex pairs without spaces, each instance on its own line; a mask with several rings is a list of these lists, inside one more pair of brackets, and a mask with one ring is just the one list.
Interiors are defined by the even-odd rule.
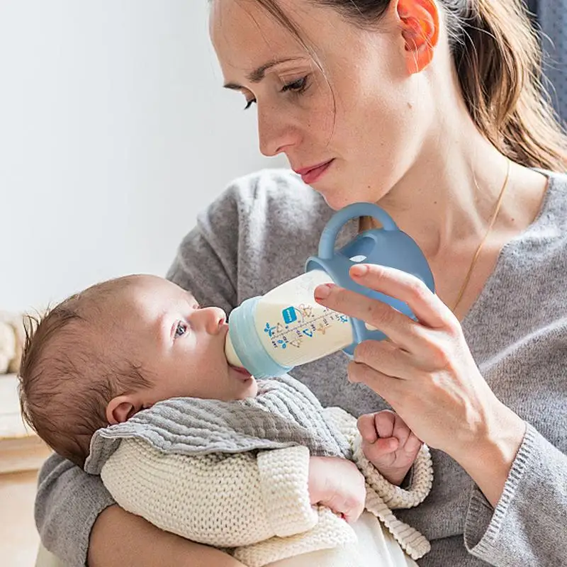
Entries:
[[531,425],[495,509],[473,490],[465,524],[469,553],[495,567],[563,565],[567,557],[567,456]]

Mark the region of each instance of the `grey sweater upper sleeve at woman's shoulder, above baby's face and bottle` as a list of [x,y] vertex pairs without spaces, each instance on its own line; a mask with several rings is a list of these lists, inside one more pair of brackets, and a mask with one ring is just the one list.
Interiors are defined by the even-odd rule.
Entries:
[[[167,278],[199,303],[230,313],[246,298],[301,274],[331,215],[325,200],[289,170],[235,179],[198,215]],[[354,233],[354,223],[337,243],[349,230]]]

